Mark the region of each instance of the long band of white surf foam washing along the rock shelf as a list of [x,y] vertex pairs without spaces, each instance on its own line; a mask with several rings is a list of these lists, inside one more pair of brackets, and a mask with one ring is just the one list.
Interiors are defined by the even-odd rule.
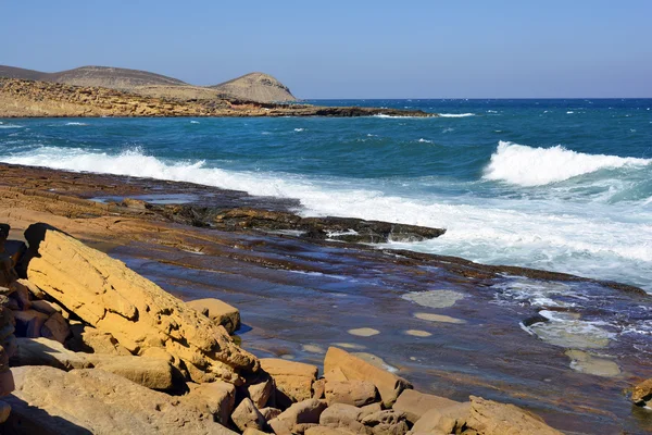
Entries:
[[[346,215],[447,228],[439,238],[415,244],[391,243],[390,248],[567,272],[652,289],[652,212],[644,206],[647,199],[641,200],[642,206],[632,207],[579,203],[554,197],[525,201],[436,192],[424,196],[418,191],[393,190],[397,187],[392,185],[384,185],[380,190],[376,179],[323,179],[288,173],[227,171],[209,167],[203,161],[163,161],[139,149],[115,156],[40,147],[0,156],[0,161],[297,198],[303,206],[303,215]],[[547,293],[541,296],[550,297]]]

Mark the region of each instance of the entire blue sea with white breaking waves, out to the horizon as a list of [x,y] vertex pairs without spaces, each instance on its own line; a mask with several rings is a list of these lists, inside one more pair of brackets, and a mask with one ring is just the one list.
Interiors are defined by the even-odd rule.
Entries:
[[0,119],[0,161],[442,227],[384,248],[652,293],[652,99],[318,100],[438,117]]

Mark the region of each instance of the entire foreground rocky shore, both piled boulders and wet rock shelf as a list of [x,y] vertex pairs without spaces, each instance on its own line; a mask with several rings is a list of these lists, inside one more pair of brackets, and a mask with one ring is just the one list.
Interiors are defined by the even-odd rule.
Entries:
[[[622,341],[616,377],[570,370],[563,350],[518,327],[536,323],[531,310],[482,297],[518,276],[590,286],[605,295],[603,307],[649,303],[635,287],[355,245],[442,231],[305,219],[291,201],[0,170],[0,221],[11,224],[0,249],[3,433],[560,433],[532,410],[565,433],[650,428],[644,409],[630,405],[645,406],[650,382],[630,390],[631,401],[617,393],[652,376],[644,356]],[[156,203],[165,195],[177,203]],[[335,273],[356,279],[355,291],[322,277]],[[383,294],[369,279],[381,279]],[[228,300],[205,297],[217,294]],[[405,320],[413,306],[419,312]],[[381,348],[388,360],[414,356],[413,365],[368,353]]]

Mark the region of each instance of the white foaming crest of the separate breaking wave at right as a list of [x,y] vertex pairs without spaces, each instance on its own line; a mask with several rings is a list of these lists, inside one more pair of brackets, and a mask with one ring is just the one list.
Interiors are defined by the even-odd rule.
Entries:
[[485,179],[541,186],[604,169],[645,166],[652,159],[585,154],[557,145],[532,148],[501,140],[485,169]]

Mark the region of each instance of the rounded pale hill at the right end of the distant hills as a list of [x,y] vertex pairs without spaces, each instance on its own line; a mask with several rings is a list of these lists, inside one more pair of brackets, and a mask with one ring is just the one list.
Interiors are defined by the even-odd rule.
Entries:
[[290,89],[264,73],[250,73],[241,77],[210,86],[223,94],[252,101],[297,101]]

